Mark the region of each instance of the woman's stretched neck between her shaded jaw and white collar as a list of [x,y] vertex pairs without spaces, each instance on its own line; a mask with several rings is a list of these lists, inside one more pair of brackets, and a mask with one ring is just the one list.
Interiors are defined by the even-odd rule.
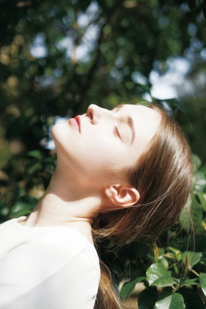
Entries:
[[[74,175],[74,174],[73,174]],[[49,187],[28,216],[28,226],[88,226],[100,207],[100,193],[80,186],[71,172],[58,166]]]

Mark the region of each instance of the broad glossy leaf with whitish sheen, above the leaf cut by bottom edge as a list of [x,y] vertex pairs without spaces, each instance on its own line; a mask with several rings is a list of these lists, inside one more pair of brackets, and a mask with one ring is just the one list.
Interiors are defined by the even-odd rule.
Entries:
[[146,272],[150,286],[172,286],[177,283],[177,279],[171,277],[171,272],[166,270],[161,264],[152,264]]

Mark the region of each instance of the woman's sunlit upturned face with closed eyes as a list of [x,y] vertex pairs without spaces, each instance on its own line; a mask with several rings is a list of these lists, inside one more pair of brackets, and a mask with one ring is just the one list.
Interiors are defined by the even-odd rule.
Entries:
[[[76,177],[113,182],[134,164],[160,123],[160,114],[143,105],[123,104],[107,110],[94,104],[80,115],[53,126],[57,157]],[[65,166],[66,168],[66,166]],[[119,176],[117,176],[119,175]],[[119,180],[118,179],[118,180]],[[117,180],[117,179],[116,179]]]

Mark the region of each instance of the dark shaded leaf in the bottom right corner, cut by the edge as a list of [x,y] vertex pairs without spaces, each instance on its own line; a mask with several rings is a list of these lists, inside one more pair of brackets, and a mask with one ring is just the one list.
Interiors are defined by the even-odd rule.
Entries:
[[185,286],[178,290],[184,298],[184,304],[187,309],[204,309],[203,302],[200,297],[192,290]]

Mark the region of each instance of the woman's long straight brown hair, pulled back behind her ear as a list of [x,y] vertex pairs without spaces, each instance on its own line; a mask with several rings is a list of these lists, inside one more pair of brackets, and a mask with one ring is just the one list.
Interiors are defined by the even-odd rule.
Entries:
[[[161,123],[147,149],[134,166],[124,171],[129,183],[140,193],[132,207],[98,214],[92,225],[94,242],[111,237],[116,247],[135,238],[148,239],[167,230],[182,210],[189,195],[193,167],[187,139],[159,106]],[[108,267],[100,261],[101,277],[95,309],[119,309],[121,304]]]

